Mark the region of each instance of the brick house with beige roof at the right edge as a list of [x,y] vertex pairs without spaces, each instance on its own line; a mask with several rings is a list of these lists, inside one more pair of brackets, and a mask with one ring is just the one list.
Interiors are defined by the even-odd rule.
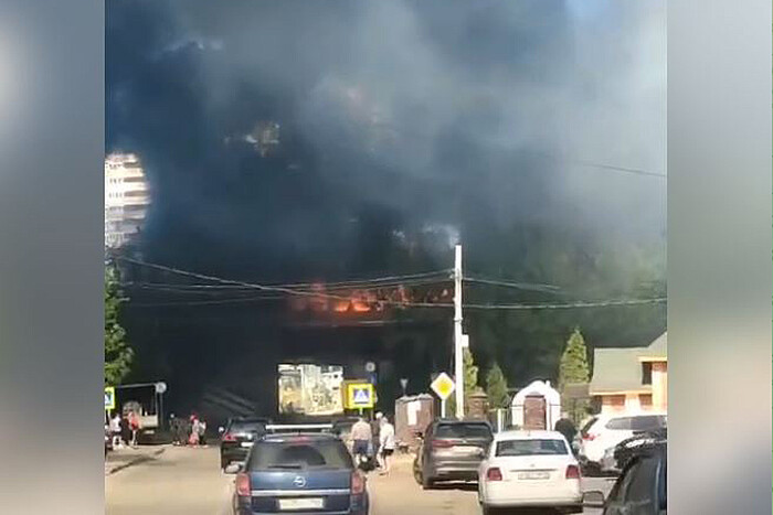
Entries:
[[590,395],[602,414],[668,409],[668,339],[646,347],[596,348]]

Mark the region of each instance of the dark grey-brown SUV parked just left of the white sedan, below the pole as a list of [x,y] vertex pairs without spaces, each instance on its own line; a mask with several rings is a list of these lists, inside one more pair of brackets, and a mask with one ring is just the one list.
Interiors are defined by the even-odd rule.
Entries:
[[494,430],[486,421],[435,420],[422,434],[414,476],[425,490],[438,481],[477,481],[478,466],[493,440]]

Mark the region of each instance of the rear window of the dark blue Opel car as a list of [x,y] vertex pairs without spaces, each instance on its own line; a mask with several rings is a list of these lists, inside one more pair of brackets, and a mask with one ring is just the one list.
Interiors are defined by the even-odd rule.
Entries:
[[351,469],[340,440],[263,441],[253,447],[250,470]]

